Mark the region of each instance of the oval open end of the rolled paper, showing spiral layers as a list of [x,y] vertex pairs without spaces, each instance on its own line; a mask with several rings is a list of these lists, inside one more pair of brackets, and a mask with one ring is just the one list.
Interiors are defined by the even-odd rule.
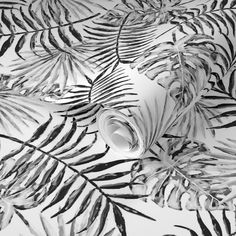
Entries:
[[97,124],[102,138],[115,152],[136,158],[145,152],[139,127],[122,112],[104,108],[97,115]]

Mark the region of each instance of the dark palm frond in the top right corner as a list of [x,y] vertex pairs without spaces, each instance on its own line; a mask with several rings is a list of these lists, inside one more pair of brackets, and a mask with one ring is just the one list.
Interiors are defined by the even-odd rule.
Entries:
[[170,22],[184,34],[189,34],[189,30],[196,34],[235,34],[235,1],[211,0],[199,4],[198,7],[188,8],[182,14],[172,12],[172,16]]

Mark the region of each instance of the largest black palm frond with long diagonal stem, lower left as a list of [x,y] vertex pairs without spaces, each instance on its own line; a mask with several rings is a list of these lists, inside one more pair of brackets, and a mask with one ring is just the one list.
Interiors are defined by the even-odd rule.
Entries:
[[[2,164],[12,163],[11,168],[3,169],[7,199],[30,189],[27,198],[40,199],[36,200],[37,204],[49,199],[43,211],[60,207],[52,217],[68,213],[67,222],[71,223],[88,214],[86,225],[80,231],[90,230],[96,221],[98,226],[94,228],[94,235],[101,235],[108,214],[111,214],[109,212],[113,212],[114,224],[125,235],[121,209],[152,219],[116,201],[143,197],[131,194],[128,187],[132,183],[126,180],[130,173],[127,164],[137,159],[109,160],[106,155],[109,148],[103,144],[103,150],[97,153],[98,146],[101,150],[98,135],[87,134],[87,130],[78,128],[76,122],[69,118],[56,122],[50,117],[26,141],[0,134],[1,140],[17,145],[1,158]],[[121,166],[122,172],[119,171]],[[15,189],[15,186],[18,188]],[[27,208],[33,206],[27,205]],[[26,208],[23,202],[21,205],[15,203],[14,207],[20,210]]]

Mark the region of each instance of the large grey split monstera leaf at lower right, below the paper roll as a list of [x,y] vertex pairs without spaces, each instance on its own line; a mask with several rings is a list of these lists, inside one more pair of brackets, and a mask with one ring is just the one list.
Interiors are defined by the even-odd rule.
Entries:
[[[184,203],[188,210],[233,209],[235,154],[222,154],[218,148],[210,150],[199,141],[184,138],[169,139],[162,147],[164,150],[134,164],[132,182],[139,183],[132,186],[135,194],[150,194],[159,206],[167,203],[178,210],[184,194],[188,195]],[[206,197],[204,206],[201,196]]]

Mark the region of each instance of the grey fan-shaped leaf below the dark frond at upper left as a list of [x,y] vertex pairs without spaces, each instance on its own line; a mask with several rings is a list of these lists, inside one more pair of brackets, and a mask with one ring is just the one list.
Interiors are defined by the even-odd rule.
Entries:
[[[64,47],[63,51],[49,47],[51,54],[43,48],[23,53],[25,61],[16,60],[11,66],[14,75],[9,86],[24,93],[40,97],[59,97],[67,87],[87,83],[92,76],[92,65],[85,63],[86,57],[80,46]],[[56,95],[56,96],[55,96]]]

